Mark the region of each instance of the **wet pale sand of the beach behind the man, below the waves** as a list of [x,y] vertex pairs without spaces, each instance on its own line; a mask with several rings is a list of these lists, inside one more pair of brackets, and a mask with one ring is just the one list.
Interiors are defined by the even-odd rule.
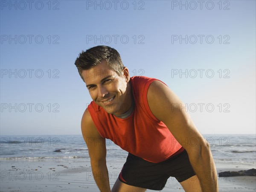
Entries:
[[[125,159],[108,161],[110,185],[116,181]],[[239,171],[255,168],[252,165],[216,164],[217,172]],[[99,192],[93,179],[90,161],[84,158],[1,160],[1,192]],[[102,178],[105,176],[102,175]],[[256,177],[218,177],[220,192],[255,192]],[[163,192],[183,192],[173,177]],[[154,190],[147,190],[154,192]]]

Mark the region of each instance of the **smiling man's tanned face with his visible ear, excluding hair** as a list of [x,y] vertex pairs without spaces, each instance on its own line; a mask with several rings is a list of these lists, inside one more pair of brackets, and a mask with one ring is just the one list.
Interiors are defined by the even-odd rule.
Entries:
[[82,71],[91,98],[107,113],[119,115],[128,111],[131,105],[131,95],[127,91],[130,76],[126,67],[123,74],[118,76],[109,68],[106,61],[102,61],[90,70]]

